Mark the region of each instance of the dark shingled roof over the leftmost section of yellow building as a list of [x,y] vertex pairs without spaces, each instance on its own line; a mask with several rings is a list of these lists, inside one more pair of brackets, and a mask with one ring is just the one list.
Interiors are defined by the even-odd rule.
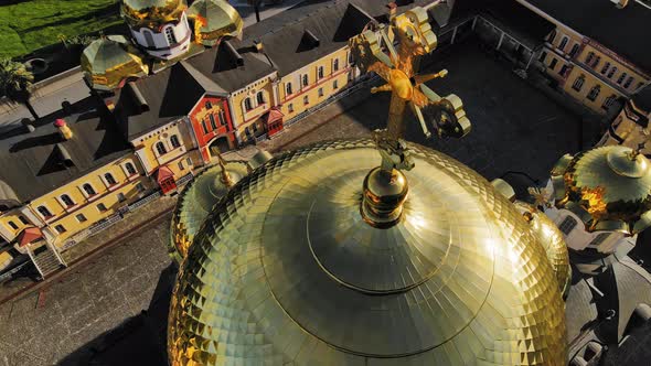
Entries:
[[[74,133],[68,141],[53,126],[56,115],[44,118],[34,132],[28,133],[19,127],[0,136],[0,180],[13,189],[19,201],[50,193],[129,153],[129,144],[113,117],[98,111],[94,103],[92,98],[84,99],[74,105],[83,112],[65,117]],[[73,166],[62,161],[61,148],[70,155]]]

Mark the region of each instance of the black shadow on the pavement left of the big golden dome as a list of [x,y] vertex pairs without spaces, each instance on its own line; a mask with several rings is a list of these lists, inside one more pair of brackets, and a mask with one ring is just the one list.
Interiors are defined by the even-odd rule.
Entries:
[[58,365],[167,365],[167,325],[178,270],[166,268],[147,310],[66,356]]

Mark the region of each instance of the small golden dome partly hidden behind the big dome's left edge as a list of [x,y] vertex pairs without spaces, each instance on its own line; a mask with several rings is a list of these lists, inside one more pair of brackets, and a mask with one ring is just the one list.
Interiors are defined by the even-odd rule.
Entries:
[[248,169],[244,162],[231,161],[226,172],[230,182],[224,182],[222,166],[209,168],[179,195],[170,230],[170,252],[178,263],[185,258],[194,235],[215,203],[228,193],[230,186],[248,174]]

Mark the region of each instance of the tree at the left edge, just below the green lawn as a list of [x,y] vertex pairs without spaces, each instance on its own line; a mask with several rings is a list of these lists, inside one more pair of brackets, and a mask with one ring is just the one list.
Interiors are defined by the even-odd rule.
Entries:
[[26,69],[25,65],[9,58],[0,58],[0,96],[22,103],[32,117],[39,119],[39,115],[30,104],[33,82],[34,75]]

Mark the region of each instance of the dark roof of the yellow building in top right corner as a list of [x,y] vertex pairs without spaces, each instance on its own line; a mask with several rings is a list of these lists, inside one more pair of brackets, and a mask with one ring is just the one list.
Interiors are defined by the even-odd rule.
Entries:
[[651,10],[634,0],[617,9],[608,0],[527,0],[534,7],[604,44],[647,72],[651,72]]

